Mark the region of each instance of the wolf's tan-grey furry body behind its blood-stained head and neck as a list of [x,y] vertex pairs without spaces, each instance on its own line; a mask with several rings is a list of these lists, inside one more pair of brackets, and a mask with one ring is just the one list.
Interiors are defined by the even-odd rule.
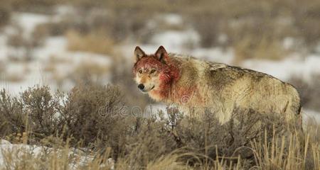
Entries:
[[[186,113],[201,114],[203,108],[210,109],[220,123],[225,123],[237,108],[277,113],[287,120],[297,118],[300,112],[297,89],[268,74],[189,56],[170,54],[170,57],[179,65],[181,77],[171,89],[171,96],[179,98],[169,98],[166,103],[177,103]],[[174,94],[181,89],[193,89],[187,102],[181,103],[183,96]]]

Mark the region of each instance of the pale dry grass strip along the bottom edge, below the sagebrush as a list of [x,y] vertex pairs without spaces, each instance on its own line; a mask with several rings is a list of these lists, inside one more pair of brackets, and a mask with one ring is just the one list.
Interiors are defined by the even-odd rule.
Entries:
[[[301,135],[299,132],[293,132],[288,137],[279,137],[272,135],[272,141],[267,142],[253,140],[251,147],[248,147],[255,160],[254,166],[250,169],[319,169],[320,168],[320,144],[311,140],[311,135]],[[145,144],[137,144],[136,149],[141,149]],[[145,146],[151,147],[151,146]],[[241,149],[241,148],[239,148]],[[216,152],[218,148],[215,147]],[[72,154],[70,154],[70,152]],[[118,157],[115,164],[110,162],[110,152],[97,154],[97,152],[75,152],[67,144],[55,145],[52,149],[43,147],[42,152],[35,154],[32,149],[9,149],[2,151],[5,155],[4,166],[14,167],[14,169],[142,169],[142,167],[134,166],[134,162],[139,162],[139,158],[135,154],[124,157]],[[144,150],[140,150],[144,152]],[[156,154],[154,150],[154,154]],[[18,155],[18,156],[16,156]],[[19,157],[19,159],[16,159]],[[157,159],[150,159],[146,162],[143,169],[164,170],[164,169],[248,169],[243,166],[246,162],[245,158],[226,157],[224,155],[216,155],[216,157],[208,157],[199,155],[195,152],[181,153],[181,149],[164,155],[157,155]],[[198,160],[193,164],[188,164],[188,159]],[[83,161],[85,159],[86,161]],[[206,162],[203,160],[206,159]],[[68,168],[69,167],[69,168]]]

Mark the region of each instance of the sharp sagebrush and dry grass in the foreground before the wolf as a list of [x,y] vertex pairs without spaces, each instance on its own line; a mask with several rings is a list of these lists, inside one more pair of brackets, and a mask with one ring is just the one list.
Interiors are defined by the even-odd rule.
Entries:
[[[304,134],[275,115],[240,110],[225,125],[213,113],[199,120],[173,107],[134,114],[115,86],[81,85],[68,94],[36,86],[17,97],[3,90],[0,125],[0,135],[12,143],[53,148],[41,156],[26,152],[22,159],[7,153],[6,164],[16,169],[72,161],[78,169],[105,169],[110,157],[116,169],[319,169],[320,162],[316,125]],[[95,159],[80,165],[72,154],[58,154],[70,147]]]

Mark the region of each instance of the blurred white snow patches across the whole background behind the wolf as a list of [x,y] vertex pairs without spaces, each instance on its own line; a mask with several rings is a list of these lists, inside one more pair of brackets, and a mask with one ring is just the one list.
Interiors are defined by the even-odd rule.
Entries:
[[[16,33],[14,26],[23,30],[23,37],[30,38],[34,28],[40,23],[50,21],[60,21],[64,15],[73,13],[73,8],[60,6],[55,15],[46,16],[34,13],[14,13],[12,22],[0,33],[0,62],[4,65],[1,71],[0,65],[0,89],[5,88],[11,94],[17,94],[35,84],[48,85],[51,89],[68,90],[74,82],[68,79],[68,76],[75,71],[75,68],[81,67],[83,63],[92,63],[101,67],[110,67],[112,58],[106,55],[97,55],[88,52],[70,52],[68,51],[68,42],[65,37],[47,38],[43,47],[36,47],[33,50],[33,60],[29,62],[13,61],[10,55],[18,54],[22,51],[20,48],[14,48],[7,45],[6,40],[9,35]],[[162,17],[162,20],[171,25],[179,25],[182,18],[175,14],[168,14]],[[153,26],[154,23],[150,23]],[[157,33],[151,38],[149,44],[140,44],[147,53],[152,53],[159,45],[164,45],[169,52],[193,55],[204,60],[214,62],[224,62],[232,64],[234,53],[233,49],[222,50],[217,47],[201,48],[199,47],[199,35],[195,30],[166,30],[163,33]],[[288,46],[292,40],[286,40],[284,45]],[[128,43],[122,45],[120,49],[124,56],[131,60],[132,51],[137,44]],[[190,50],[188,45],[194,48]],[[0,63],[0,64],[1,64]],[[270,60],[246,60],[242,63],[243,67],[254,69],[260,72],[271,74],[274,77],[284,81],[292,76],[302,77],[306,81],[313,79],[312,74],[320,73],[320,55],[291,55],[282,61]],[[7,77],[17,77],[18,80],[10,81]],[[60,83],[57,81],[60,80]],[[105,83],[109,81],[106,73]],[[309,115],[315,115],[320,121],[319,115],[314,111],[305,111]]]

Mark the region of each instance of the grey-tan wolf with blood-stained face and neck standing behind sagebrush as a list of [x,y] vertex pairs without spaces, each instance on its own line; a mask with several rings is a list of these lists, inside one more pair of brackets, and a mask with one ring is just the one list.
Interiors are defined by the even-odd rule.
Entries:
[[302,108],[291,84],[251,69],[167,53],[163,46],[151,55],[137,46],[133,73],[138,89],[155,101],[174,104],[189,115],[209,110],[221,124],[235,108],[277,113],[285,120],[297,118]]

